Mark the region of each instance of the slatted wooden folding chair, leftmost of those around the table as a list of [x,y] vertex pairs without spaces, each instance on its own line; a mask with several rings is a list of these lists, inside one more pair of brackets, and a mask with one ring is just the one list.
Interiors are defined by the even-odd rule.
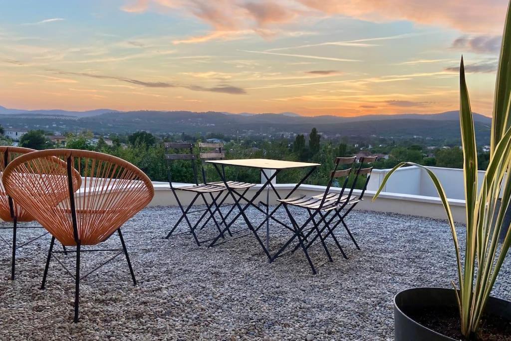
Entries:
[[[166,143],[164,143],[164,146],[165,146],[165,158],[167,160],[167,170],[168,170],[170,189],[171,189],[172,193],[174,194],[174,197],[176,198],[179,209],[181,210],[181,216],[176,221],[173,228],[170,230],[170,232],[167,234],[167,236],[165,238],[169,239],[173,235],[179,235],[182,233],[191,233],[193,238],[195,239],[195,242],[197,243],[197,245],[200,246],[200,244],[202,242],[205,242],[208,240],[199,241],[199,239],[197,238],[196,230],[197,230],[199,224],[203,221],[203,219],[206,218],[206,216],[207,216],[206,221],[202,224],[201,229],[205,227],[205,225],[207,224],[207,222],[210,221],[210,219],[213,219],[218,232],[220,232],[223,237],[222,229],[220,228],[220,224],[218,223],[218,221],[215,217],[215,213],[219,212],[221,215],[221,211],[217,205],[217,200],[220,197],[220,195],[222,194],[222,192],[225,191],[225,187],[212,185],[212,184],[206,184],[205,171],[204,171],[203,167],[202,167],[203,183],[199,184],[198,177],[197,177],[197,165],[196,165],[197,157],[194,154],[194,150],[193,150],[194,144],[166,142]],[[170,151],[176,151],[176,150],[178,152],[180,151],[180,153],[169,153]],[[186,150],[188,152],[183,153],[183,150]],[[207,155],[205,155],[205,156],[207,156]],[[172,166],[172,163],[175,161],[190,161],[191,162],[192,171],[193,171],[192,176],[193,176],[193,181],[194,181],[195,185],[184,186],[184,187],[183,186],[181,186],[181,187],[174,186],[173,179],[172,179],[171,166]],[[179,199],[179,196],[177,195],[176,190],[192,192],[195,194],[193,199],[188,204],[187,208],[183,207],[183,204],[181,203],[181,200]],[[208,202],[206,196],[210,197],[211,202]],[[191,211],[191,209],[193,208],[193,204],[197,201],[198,198],[202,199],[202,201],[206,205],[206,208]],[[214,210],[212,208],[214,208]],[[197,212],[203,212],[203,213],[200,216],[200,218],[192,225],[189,215],[192,213],[197,213]],[[181,221],[183,219],[188,224],[189,231],[174,234],[174,232],[176,231],[177,227],[179,226],[179,224],[181,223]],[[223,217],[222,217],[222,222],[224,222]],[[230,232],[229,232],[229,234],[230,234]]]

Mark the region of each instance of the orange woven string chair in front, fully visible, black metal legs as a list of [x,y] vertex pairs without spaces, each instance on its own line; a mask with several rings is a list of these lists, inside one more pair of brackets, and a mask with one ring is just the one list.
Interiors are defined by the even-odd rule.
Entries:
[[[58,158],[66,168],[51,167]],[[82,188],[75,192],[73,172],[82,175]],[[75,279],[75,315],[78,322],[80,280],[124,253],[133,284],[135,275],[124,242],[121,226],[153,198],[151,180],[140,169],[118,157],[74,149],[48,149],[22,155],[9,164],[3,175],[6,192],[52,235],[41,289],[48,275],[55,239],[65,246],[76,246],[67,253],[76,254],[76,274],[64,267]],[[64,199],[53,202],[64,194]],[[115,256],[80,276],[80,253],[83,245],[97,245],[117,232],[122,248],[86,249],[113,251]]]

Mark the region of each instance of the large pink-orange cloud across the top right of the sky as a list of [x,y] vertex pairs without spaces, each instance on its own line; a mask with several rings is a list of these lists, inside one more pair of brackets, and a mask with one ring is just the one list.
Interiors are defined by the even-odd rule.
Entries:
[[408,20],[417,24],[450,27],[466,33],[500,34],[505,0],[137,0],[122,9],[140,13],[180,10],[213,29],[203,36],[176,43],[204,42],[239,36],[239,31],[269,37],[282,26],[307,16],[344,15],[370,21]]

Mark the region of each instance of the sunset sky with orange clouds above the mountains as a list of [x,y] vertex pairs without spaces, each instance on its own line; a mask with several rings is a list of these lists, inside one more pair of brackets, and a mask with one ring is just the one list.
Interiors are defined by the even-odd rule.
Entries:
[[0,2],[0,105],[491,115],[507,0]]

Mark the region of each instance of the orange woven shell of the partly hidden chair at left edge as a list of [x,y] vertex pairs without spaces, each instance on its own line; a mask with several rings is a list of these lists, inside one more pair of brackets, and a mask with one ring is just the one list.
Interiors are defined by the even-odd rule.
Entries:
[[[3,173],[7,165],[16,157],[33,151],[35,149],[0,146],[0,173]],[[5,193],[4,184],[0,179],[0,218],[4,221],[12,221],[14,217],[18,221],[34,220],[27,210],[24,210]]]

